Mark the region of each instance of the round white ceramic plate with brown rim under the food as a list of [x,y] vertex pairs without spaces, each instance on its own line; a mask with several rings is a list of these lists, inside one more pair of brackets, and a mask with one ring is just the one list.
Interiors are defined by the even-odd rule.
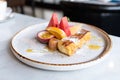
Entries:
[[[80,24],[82,28],[91,31],[92,39],[71,57],[58,51],[51,52],[46,49],[45,44],[36,40],[36,34],[44,30],[48,23],[32,25],[18,32],[13,37],[10,48],[20,61],[36,68],[65,71],[92,66],[104,59],[111,47],[111,40],[103,30],[92,25]],[[99,46],[99,49],[90,48],[90,45]],[[33,49],[33,52],[28,52],[28,49]]]

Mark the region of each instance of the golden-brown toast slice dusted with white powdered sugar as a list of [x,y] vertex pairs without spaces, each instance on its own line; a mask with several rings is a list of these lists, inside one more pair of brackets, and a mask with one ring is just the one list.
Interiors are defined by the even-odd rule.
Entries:
[[91,32],[85,29],[81,29],[79,33],[76,33],[70,37],[63,38],[58,41],[58,50],[65,55],[72,56],[77,49],[81,48],[91,38]]

